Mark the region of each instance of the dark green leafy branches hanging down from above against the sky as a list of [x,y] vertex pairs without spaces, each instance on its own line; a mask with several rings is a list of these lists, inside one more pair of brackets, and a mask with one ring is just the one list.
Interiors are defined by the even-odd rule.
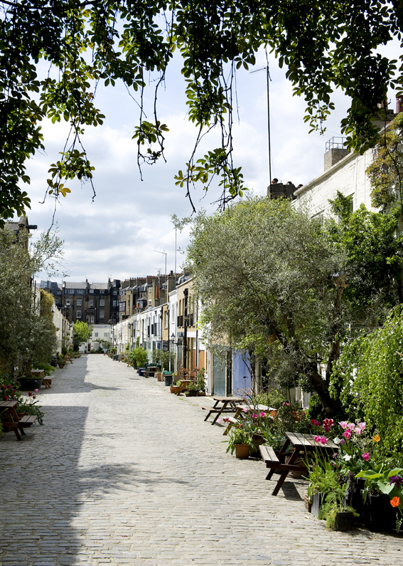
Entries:
[[[305,120],[321,130],[333,110],[335,87],[351,98],[342,131],[349,147],[377,140],[372,117],[387,88],[402,90],[402,65],[376,53],[401,40],[400,0],[0,0],[0,211],[4,218],[29,206],[26,159],[43,149],[40,122],[65,120],[71,130],[61,157],[49,169],[48,192],[70,189],[66,180],[92,179],[82,147],[86,126],[102,124],[95,90],[123,80],[142,108],[146,75],[155,97],[173,51],[183,58],[188,117],[198,140],[218,126],[222,145],[201,159],[190,156],[177,184],[222,175],[222,202],[242,194],[242,173],[232,162],[232,85],[240,67],[254,65],[259,48],[274,51],[307,104]],[[38,68],[45,62],[49,73]],[[52,68],[55,72],[52,71]],[[156,108],[156,107],[155,107]],[[167,126],[154,117],[134,130],[139,163],[163,155]]]

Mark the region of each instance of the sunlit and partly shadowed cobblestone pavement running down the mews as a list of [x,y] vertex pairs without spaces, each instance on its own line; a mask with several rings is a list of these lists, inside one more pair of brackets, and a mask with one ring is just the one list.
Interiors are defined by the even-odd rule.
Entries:
[[[403,565],[403,540],[326,531],[303,481],[272,497],[200,398],[101,355],[57,370],[44,426],[0,439],[0,565]],[[211,402],[211,399],[203,399]]]

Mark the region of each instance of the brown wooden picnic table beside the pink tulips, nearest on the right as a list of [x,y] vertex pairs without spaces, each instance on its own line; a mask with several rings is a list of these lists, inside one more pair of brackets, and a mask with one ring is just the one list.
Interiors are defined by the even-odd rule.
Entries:
[[[291,453],[289,461],[286,463],[286,455],[289,454],[289,446],[292,445],[294,450]],[[270,468],[266,479],[272,479],[274,471],[282,470],[279,481],[276,483],[276,487],[272,491],[272,496],[276,496],[279,493],[284,480],[289,474],[289,471],[301,471],[308,473],[306,466],[304,464],[296,463],[298,458],[306,458],[308,454],[320,449],[321,451],[334,452],[338,450],[338,445],[331,440],[326,441],[326,444],[321,444],[315,441],[313,434],[299,434],[297,432],[286,432],[286,441],[284,442],[279,454],[276,454],[272,449],[272,446],[259,446],[260,454],[266,467]],[[287,454],[288,452],[288,454]]]

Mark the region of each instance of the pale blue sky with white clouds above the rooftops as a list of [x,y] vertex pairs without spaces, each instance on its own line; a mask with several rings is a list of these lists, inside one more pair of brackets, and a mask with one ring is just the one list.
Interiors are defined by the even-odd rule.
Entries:
[[[393,46],[385,49],[392,55]],[[394,56],[397,54],[394,53]],[[266,64],[264,53],[254,69]],[[303,122],[305,103],[292,96],[284,69],[279,69],[274,56],[269,58],[270,106],[272,126],[272,177],[294,184],[306,184],[323,172],[326,141],[340,136],[340,120],[348,108],[348,100],[336,92],[336,110],[327,123],[324,136],[308,134]],[[106,115],[104,125],[88,128],[85,150],[95,166],[94,184],[97,196],[92,202],[89,184],[69,182],[71,194],[58,204],[55,221],[59,236],[65,242],[66,266],[70,281],[107,281],[134,276],[156,275],[175,266],[175,229],[171,215],[188,216],[191,207],[186,190],[175,186],[174,175],[190,157],[195,141],[195,127],[186,116],[181,61],[173,61],[166,74],[165,89],[158,96],[159,119],[166,123],[166,160],[143,168],[141,182],[136,163],[136,142],[131,140],[139,120],[139,108],[122,85],[98,88],[96,104]],[[152,85],[149,88],[153,95]],[[394,108],[394,96],[390,93]],[[237,101],[240,121],[234,127],[235,160],[242,166],[245,184],[256,194],[266,194],[269,182],[267,157],[267,92],[266,75],[240,70],[237,75]],[[149,108],[149,107],[148,107]],[[146,107],[147,111],[147,107]],[[38,232],[52,224],[54,201],[45,194],[48,167],[63,150],[66,124],[43,123],[45,154],[37,154],[28,164],[31,175],[31,211],[28,219],[38,224]],[[210,134],[200,147],[200,157],[207,149],[219,147],[218,132]],[[213,210],[219,192],[193,194],[195,206]],[[204,197],[204,198],[203,198]],[[186,231],[178,232],[177,248],[185,248]],[[180,266],[183,255],[177,254]],[[178,268],[179,269],[179,268]],[[40,278],[41,276],[38,276]],[[61,278],[59,278],[61,281]]]

